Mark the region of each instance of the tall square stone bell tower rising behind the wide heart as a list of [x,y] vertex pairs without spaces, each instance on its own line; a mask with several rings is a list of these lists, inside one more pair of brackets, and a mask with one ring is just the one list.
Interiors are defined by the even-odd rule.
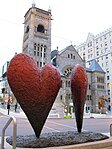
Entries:
[[24,18],[22,52],[33,56],[43,67],[51,63],[51,10],[42,10],[33,3]]

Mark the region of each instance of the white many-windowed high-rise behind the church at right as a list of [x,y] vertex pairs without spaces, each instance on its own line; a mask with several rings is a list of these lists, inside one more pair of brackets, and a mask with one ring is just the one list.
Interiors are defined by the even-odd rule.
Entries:
[[89,33],[86,42],[76,46],[76,50],[86,61],[86,67],[95,59],[105,71],[106,98],[112,106],[112,28],[96,36]]

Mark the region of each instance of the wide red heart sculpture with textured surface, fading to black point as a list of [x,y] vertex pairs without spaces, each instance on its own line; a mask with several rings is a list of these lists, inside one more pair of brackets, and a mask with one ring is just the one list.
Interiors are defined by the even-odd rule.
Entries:
[[40,69],[31,56],[20,53],[10,61],[7,79],[39,137],[61,86],[58,70],[50,64]]

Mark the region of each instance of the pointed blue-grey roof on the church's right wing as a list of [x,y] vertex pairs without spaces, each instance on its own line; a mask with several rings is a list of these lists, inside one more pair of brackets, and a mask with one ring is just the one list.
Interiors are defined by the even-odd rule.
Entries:
[[90,65],[89,69],[91,69],[92,72],[97,71],[97,72],[105,73],[95,59],[92,61],[92,64]]

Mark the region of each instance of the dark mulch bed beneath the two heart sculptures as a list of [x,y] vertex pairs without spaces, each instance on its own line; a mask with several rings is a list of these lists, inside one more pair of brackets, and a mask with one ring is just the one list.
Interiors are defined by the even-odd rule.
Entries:
[[[52,133],[43,133],[40,135],[40,138],[36,138],[35,135],[29,136],[17,136],[17,147],[21,148],[49,148],[49,147],[60,147],[64,149],[64,146],[76,145],[87,142],[96,142],[100,140],[108,139],[109,137],[101,133],[93,132],[52,132]],[[8,137],[7,142],[12,145],[13,138]],[[44,143],[43,143],[44,142]],[[71,147],[73,149],[73,147]],[[91,147],[92,148],[92,147]],[[83,147],[81,147],[83,149]]]

